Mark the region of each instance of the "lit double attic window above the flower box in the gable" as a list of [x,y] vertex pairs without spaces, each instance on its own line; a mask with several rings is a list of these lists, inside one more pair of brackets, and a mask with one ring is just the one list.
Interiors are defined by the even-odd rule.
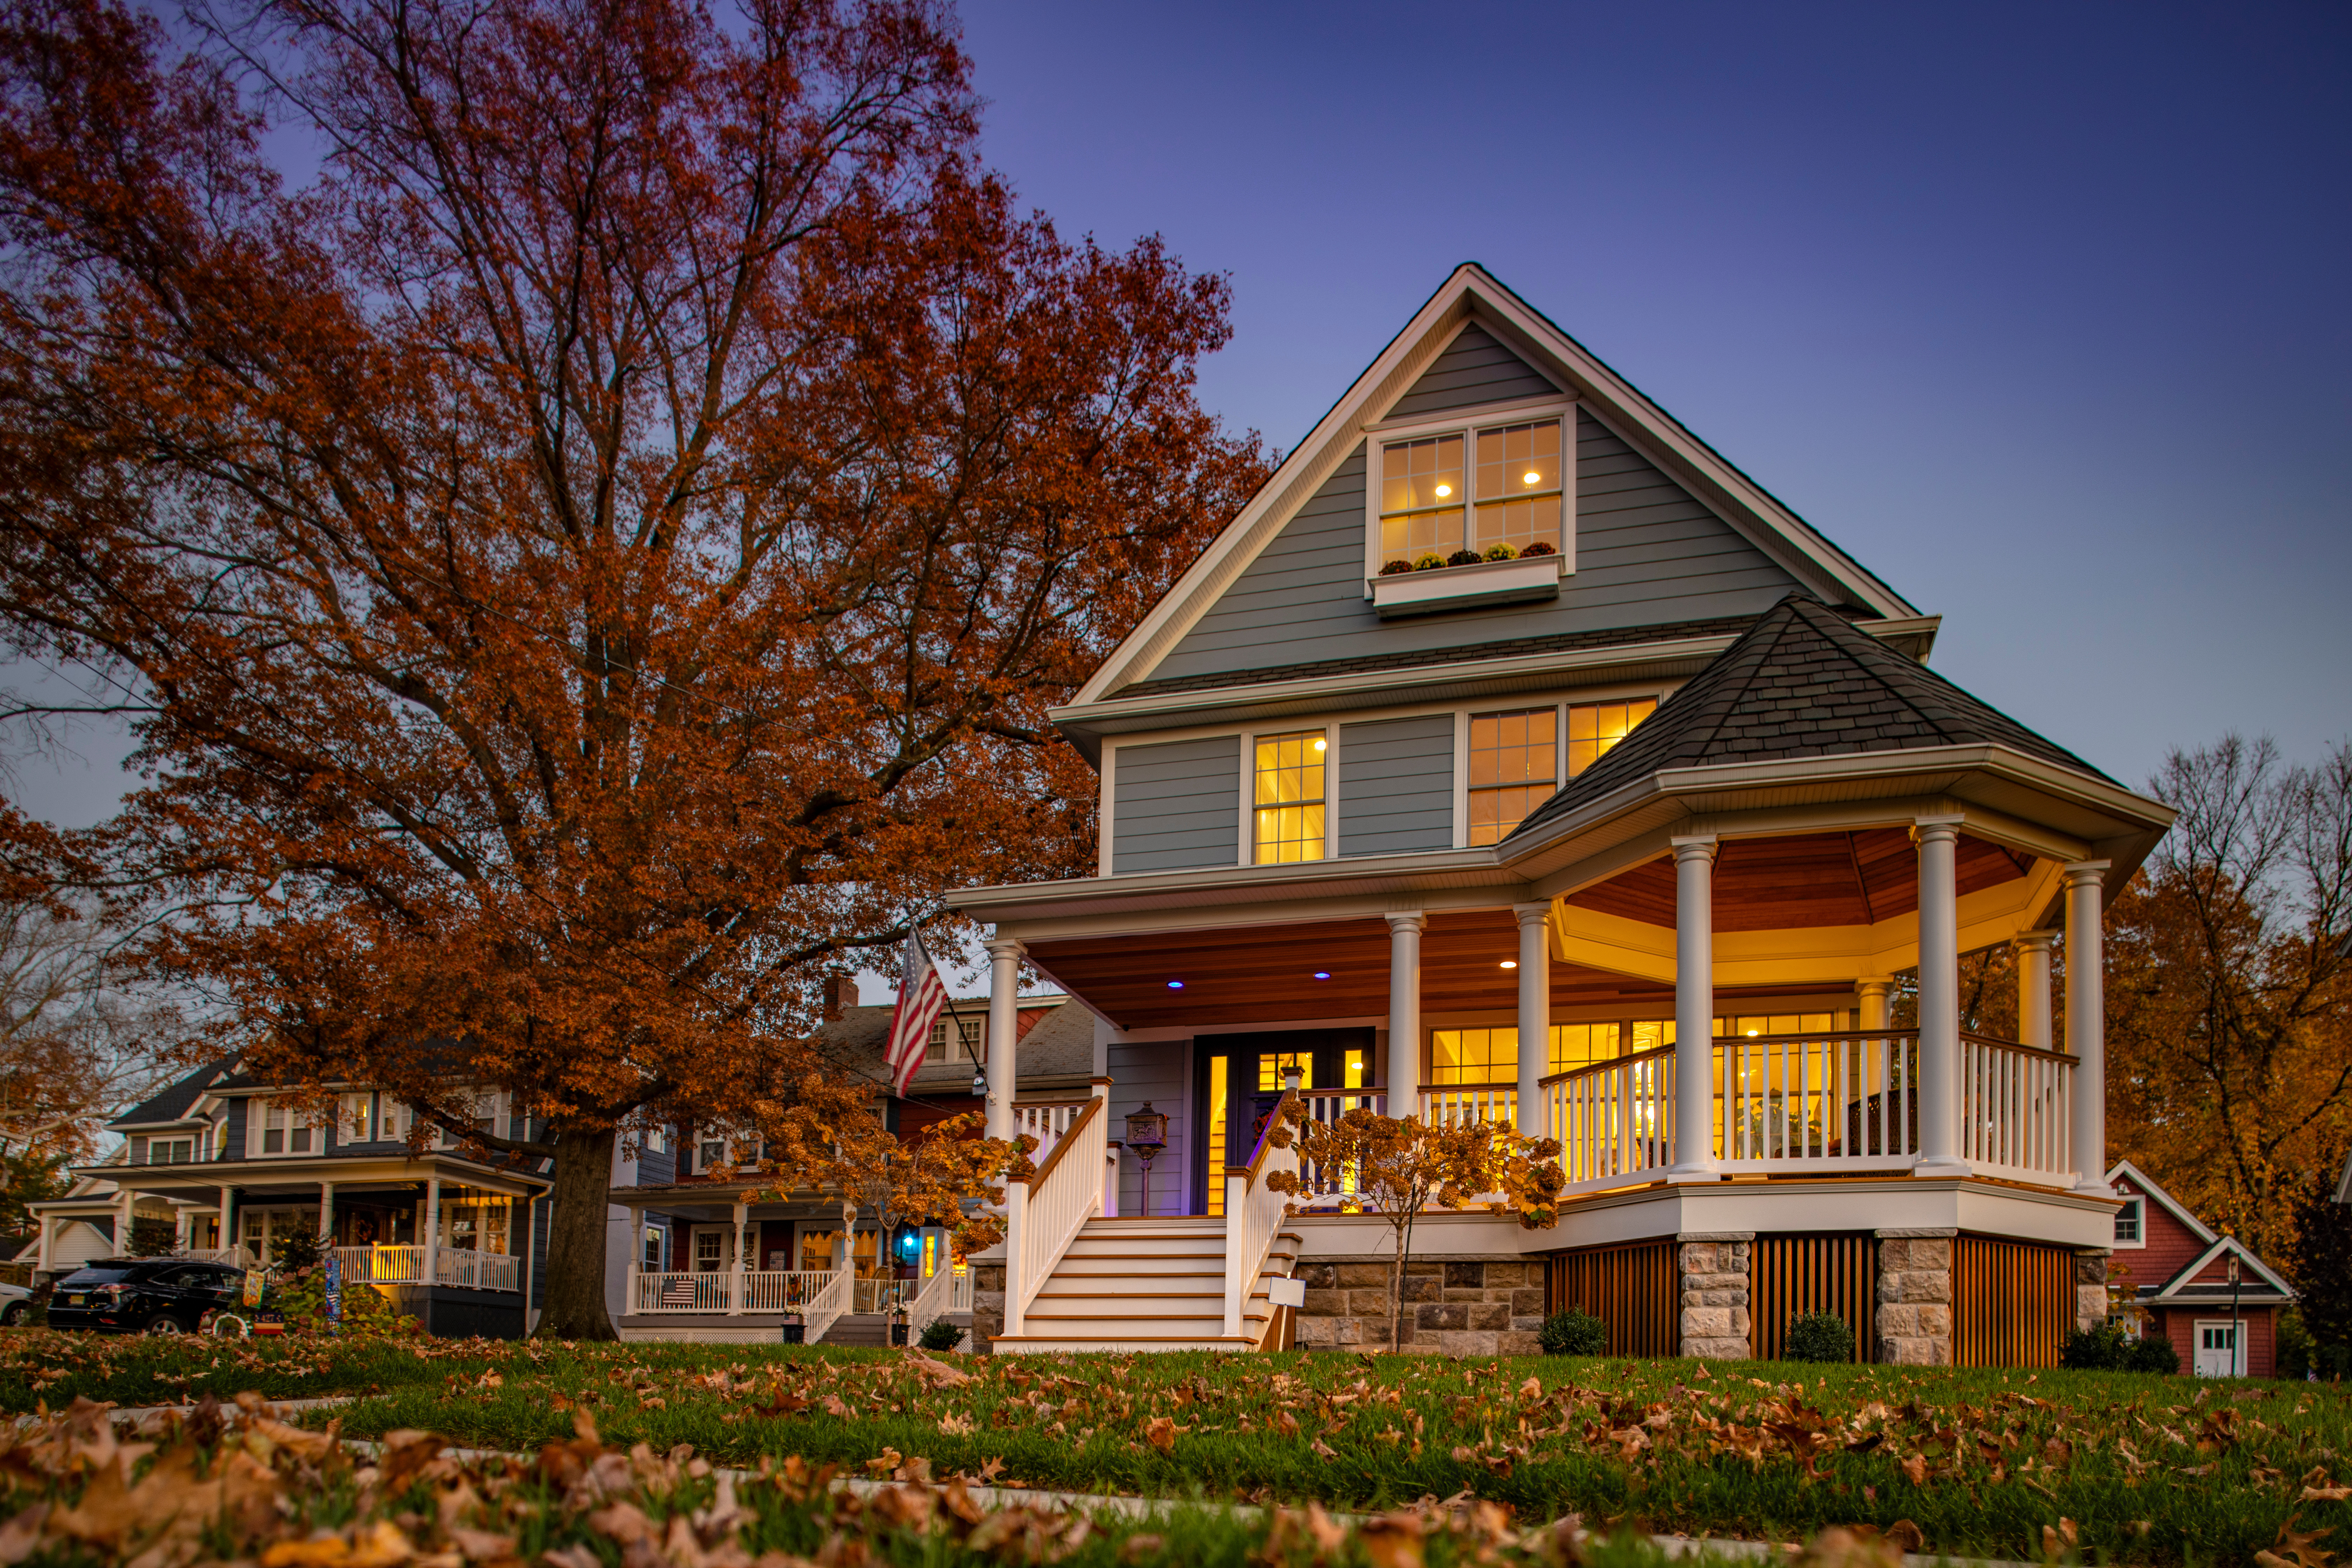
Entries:
[[1562,548],[1562,425],[1437,430],[1381,444],[1381,562],[1451,562],[1456,550]]

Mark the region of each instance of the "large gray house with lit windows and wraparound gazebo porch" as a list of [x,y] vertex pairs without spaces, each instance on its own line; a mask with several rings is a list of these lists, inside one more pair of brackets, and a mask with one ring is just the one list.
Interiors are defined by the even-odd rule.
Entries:
[[[983,1335],[1385,1342],[1385,1227],[1315,1173],[1303,1213],[1268,1190],[1296,1079],[1312,1117],[1564,1147],[1555,1227],[1423,1225],[1416,1349],[1581,1307],[1616,1354],[1769,1356],[1823,1309],[1863,1356],[2053,1361],[2114,1237],[2100,903],[2171,811],[1933,675],[1936,632],[1458,268],[1054,712],[1098,875],[957,900],[1000,1027],[1028,966],[1094,1030],[978,1260]],[[1959,1027],[1992,945],[2023,1039]],[[1033,1100],[993,1058],[990,1128]]]

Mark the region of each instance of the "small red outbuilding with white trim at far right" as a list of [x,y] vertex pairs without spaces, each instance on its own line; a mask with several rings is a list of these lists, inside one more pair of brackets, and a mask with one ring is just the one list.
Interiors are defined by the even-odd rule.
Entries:
[[[2277,1269],[2220,1237],[2129,1159],[2107,1171],[2114,1211],[2110,1279],[2129,1286],[2133,1333],[2166,1338],[2199,1378],[2270,1378],[2279,1312],[2296,1300]],[[2237,1284],[2230,1260],[2237,1260]]]

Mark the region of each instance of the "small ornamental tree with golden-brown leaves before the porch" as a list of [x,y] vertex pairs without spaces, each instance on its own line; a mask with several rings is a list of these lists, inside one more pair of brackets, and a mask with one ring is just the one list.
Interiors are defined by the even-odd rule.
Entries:
[[[1343,1182],[1352,1201],[1388,1220],[1395,1251],[1388,1265],[1388,1347],[1404,1342],[1404,1267],[1414,1255],[1414,1222],[1437,1208],[1491,1208],[1515,1213],[1526,1229],[1559,1222],[1559,1143],[1529,1138],[1501,1121],[1437,1121],[1383,1117],[1357,1107],[1338,1121],[1308,1121],[1296,1098],[1282,1103],[1289,1128],[1277,1135],[1298,1143],[1298,1164],[1324,1180]],[[1275,1171],[1275,1192],[1310,1197],[1308,1178]],[[1298,1204],[1291,1204],[1298,1211]]]

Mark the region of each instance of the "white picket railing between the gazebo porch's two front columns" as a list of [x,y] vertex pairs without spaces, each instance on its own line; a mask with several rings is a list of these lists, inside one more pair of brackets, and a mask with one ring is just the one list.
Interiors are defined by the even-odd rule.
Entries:
[[1919,1161],[1919,1034],[1715,1041],[1724,1171],[1907,1171]]

